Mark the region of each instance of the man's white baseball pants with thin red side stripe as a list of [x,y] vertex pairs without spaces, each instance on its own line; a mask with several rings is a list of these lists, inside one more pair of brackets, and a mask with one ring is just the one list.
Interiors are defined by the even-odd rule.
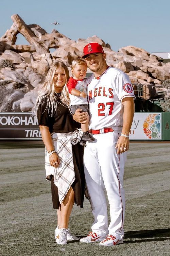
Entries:
[[[119,240],[124,236],[125,193],[123,189],[126,152],[117,154],[115,149],[120,133],[96,134],[94,142],[87,142],[84,149],[84,171],[94,223],[92,231],[106,237],[112,234]],[[105,189],[111,208],[108,227]]]

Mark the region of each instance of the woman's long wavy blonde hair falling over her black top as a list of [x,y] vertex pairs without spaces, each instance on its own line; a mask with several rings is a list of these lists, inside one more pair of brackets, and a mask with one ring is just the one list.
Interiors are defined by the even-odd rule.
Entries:
[[[47,73],[47,76],[45,78],[43,86],[40,88],[40,90],[38,92],[38,97],[36,99],[35,106],[32,110],[33,115],[35,115],[35,116],[37,115],[39,106],[44,103],[46,103],[46,109],[48,108],[48,113],[51,117],[53,116],[54,112],[57,111],[57,100],[54,96],[55,85],[54,85],[54,80],[53,80],[55,71],[57,68],[63,68],[64,74],[66,77],[66,84],[69,80],[70,76],[69,76],[69,71],[68,71],[67,66],[61,61],[53,63],[53,65],[51,66],[51,68],[49,69],[49,71]],[[60,98],[61,98],[62,103],[65,106],[69,107],[70,100],[69,100],[68,91],[66,90],[66,84],[63,87]]]

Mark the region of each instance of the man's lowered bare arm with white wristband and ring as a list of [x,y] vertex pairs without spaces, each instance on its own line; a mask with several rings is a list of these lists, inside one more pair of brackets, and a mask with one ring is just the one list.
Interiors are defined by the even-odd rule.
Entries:
[[[126,97],[122,100],[122,104],[124,106],[122,134],[129,135],[134,116],[134,98]],[[115,148],[117,148],[118,154],[128,151],[129,138],[120,136]],[[124,148],[126,149],[124,150]]]

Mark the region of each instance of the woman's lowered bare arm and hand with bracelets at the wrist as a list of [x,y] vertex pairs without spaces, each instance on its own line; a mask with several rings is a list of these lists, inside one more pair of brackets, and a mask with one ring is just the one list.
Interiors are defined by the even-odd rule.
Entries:
[[[49,132],[49,127],[40,125],[39,128],[41,131],[44,145],[47,148],[47,151],[54,150],[51,135]],[[50,165],[52,165],[54,167],[58,167],[60,165],[60,159],[56,153],[53,153],[52,155],[49,156],[49,161],[50,161]]]

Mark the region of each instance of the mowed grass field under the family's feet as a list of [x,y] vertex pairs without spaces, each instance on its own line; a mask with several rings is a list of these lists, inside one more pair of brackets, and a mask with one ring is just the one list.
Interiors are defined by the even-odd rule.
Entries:
[[[42,142],[0,143],[1,256],[170,255],[170,143],[131,142],[124,175],[124,243],[57,245],[56,210],[45,180]],[[93,222],[89,202],[73,208],[69,228],[85,236]]]

